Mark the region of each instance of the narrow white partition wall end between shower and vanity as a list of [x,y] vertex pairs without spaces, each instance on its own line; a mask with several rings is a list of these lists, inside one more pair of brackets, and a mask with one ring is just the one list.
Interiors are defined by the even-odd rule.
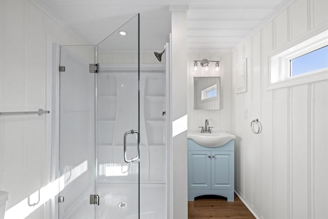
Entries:
[[[172,121],[187,115],[187,14],[172,11]],[[173,218],[188,218],[187,124],[186,130],[173,136]],[[172,127],[173,132],[178,127]],[[183,128],[181,128],[183,129]]]

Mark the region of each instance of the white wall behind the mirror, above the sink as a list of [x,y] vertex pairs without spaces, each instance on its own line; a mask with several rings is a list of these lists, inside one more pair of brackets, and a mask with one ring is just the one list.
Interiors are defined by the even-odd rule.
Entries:
[[[194,73],[193,61],[206,58],[208,60],[220,61],[221,77],[221,109],[220,110],[195,110],[194,109]],[[214,64],[214,63],[211,63]],[[188,129],[197,130],[199,126],[205,126],[205,120],[209,120],[214,130],[231,131],[232,102],[231,102],[231,80],[232,80],[232,53],[223,52],[189,52],[188,53]],[[209,74],[212,74],[209,72]],[[206,75],[204,75],[206,76]]]

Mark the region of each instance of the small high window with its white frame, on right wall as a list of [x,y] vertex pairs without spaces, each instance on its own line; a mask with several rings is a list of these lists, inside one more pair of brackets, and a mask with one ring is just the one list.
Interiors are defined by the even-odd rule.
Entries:
[[268,90],[318,82],[328,78],[328,30],[317,26],[269,54]]

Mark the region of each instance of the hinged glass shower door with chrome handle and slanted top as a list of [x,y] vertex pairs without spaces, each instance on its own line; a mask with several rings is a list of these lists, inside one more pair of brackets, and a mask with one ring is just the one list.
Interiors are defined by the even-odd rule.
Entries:
[[139,15],[97,45],[97,218],[139,218]]

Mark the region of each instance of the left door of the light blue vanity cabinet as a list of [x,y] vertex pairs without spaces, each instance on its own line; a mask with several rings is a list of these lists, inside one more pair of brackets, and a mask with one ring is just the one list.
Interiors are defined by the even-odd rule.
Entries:
[[211,189],[211,151],[188,151],[188,189]]

